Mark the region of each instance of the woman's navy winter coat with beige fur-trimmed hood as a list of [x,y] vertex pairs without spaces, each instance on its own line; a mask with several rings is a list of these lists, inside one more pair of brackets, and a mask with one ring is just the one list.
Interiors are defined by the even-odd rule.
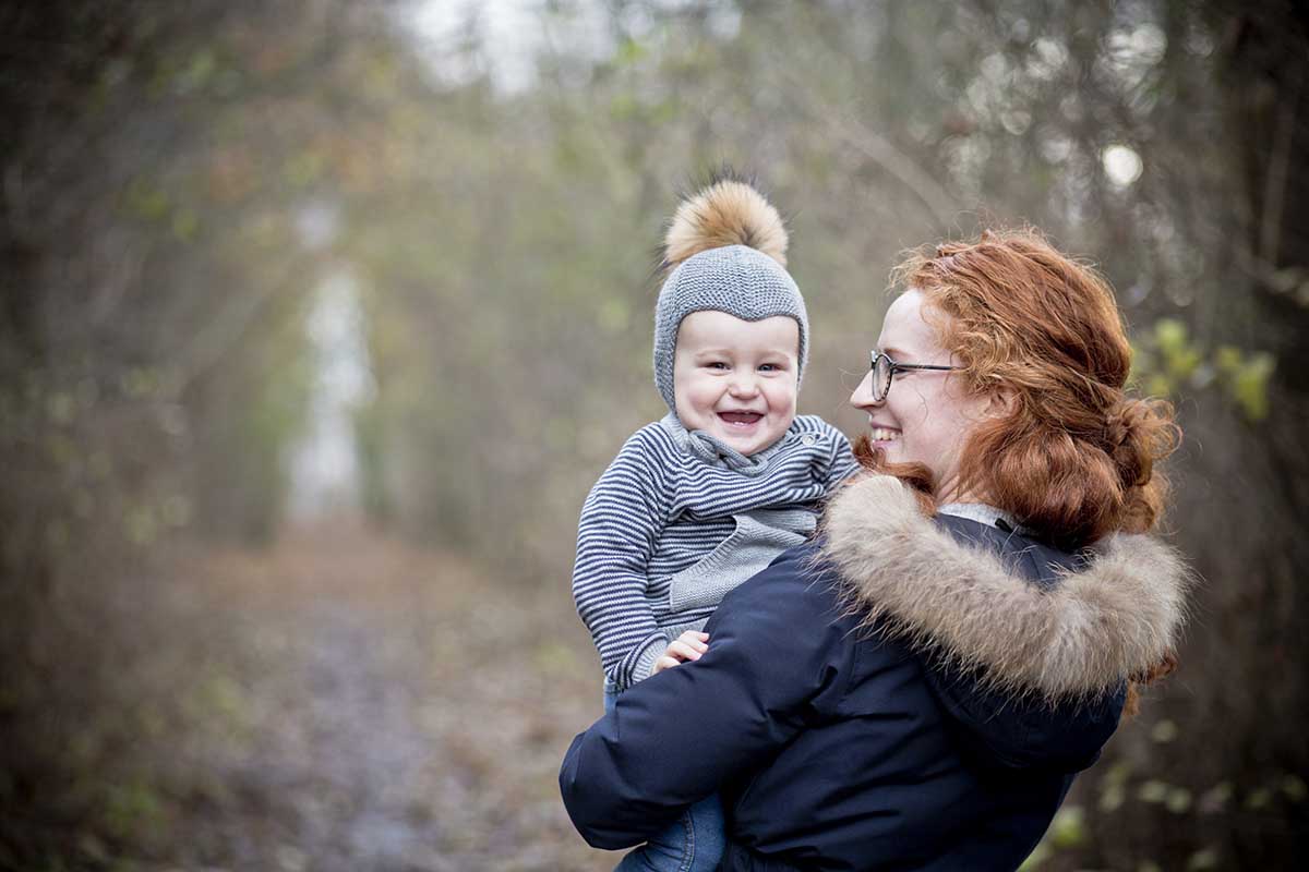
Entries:
[[933,524],[884,477],[842,492],[826,536],[573,740],[559,780],[589,843],[637,845],[721,791],[724,869],[1013,869],[1181,620],[1185,573],[1144,537],[1086,565]]

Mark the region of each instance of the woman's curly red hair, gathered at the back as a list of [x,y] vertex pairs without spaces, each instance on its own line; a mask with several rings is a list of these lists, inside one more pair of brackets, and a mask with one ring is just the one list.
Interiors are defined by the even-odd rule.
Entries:
[[[1169,403],[1126,392],[1132,348],[1109,282],[1030,229],[912,251],[891,280],[945,315],[933,326],[973,391],[1009,396],[965,441],[961,490],[1069,550],[1155,527],[1156,464],[1181,431]],[[867,439],[860,455],[876,464]],[[922,469],[889,471],[931,488]]]

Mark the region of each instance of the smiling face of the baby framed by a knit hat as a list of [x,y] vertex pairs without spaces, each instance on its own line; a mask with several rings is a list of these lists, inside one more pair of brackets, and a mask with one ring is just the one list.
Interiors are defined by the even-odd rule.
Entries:
[[796,417],[800,326],[778,315],[747,322],[691,312],[677,331],[673,394],[687,430],[704,430],[749,456]]

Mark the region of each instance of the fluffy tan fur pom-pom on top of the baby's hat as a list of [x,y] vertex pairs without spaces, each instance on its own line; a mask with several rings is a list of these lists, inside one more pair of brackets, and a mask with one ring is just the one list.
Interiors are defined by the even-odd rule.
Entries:
[[781,216],[747,182],[723,179],[683,200],[664,237],[664,264],[724,246],[749,246],[787,265]]

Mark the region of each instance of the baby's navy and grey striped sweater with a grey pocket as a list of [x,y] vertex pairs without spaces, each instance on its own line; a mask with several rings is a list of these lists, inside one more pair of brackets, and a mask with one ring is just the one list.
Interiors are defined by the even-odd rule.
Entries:
[[750,458],[673,414],[632,434],[577,527],[573,600],[606,685],[648,677],[670,641],[813,532],[819,502],[856,468],[846,437],[817,416]]

